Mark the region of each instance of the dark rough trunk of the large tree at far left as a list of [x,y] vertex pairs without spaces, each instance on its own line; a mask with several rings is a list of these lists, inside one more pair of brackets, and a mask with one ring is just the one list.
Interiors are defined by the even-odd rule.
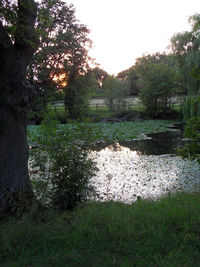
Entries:
[[18,0],[17,14],[14,41],[0,22],[0,217],[14,209],[20,195],[24,204],[25,195],[32,198],[26,113],[34,90],[26,81],[26,69],[36,49],[35,2]]

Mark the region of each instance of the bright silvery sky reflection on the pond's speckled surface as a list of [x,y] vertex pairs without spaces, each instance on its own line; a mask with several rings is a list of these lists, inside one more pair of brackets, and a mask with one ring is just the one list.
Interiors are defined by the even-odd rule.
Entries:
[[176,155],[141,155],[115,143],[93,151],[92,157],[99,171],[91,183],[101,201],[132,203],[138,198],[157,199],[200,188],[200,165]]

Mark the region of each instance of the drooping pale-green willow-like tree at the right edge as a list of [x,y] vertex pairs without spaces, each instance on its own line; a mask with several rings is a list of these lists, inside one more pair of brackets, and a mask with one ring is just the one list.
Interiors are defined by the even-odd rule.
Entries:
[[200,114],[200,14],[189,18],[191,30],[175,34],[171,38],[171,49],[180,70],[181,84],[187,94],[184,107],[185,120]]

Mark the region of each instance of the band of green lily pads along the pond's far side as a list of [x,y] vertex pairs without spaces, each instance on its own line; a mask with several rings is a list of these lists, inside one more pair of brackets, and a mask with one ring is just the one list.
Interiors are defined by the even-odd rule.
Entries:
[[[137,122],[118,122],[118,123],[82,123],[80,125],[88,129],[88,136],[94,141],[131,141],[143,138],[144,134],[166,131],[171,125],[171,121],[146,120]],[[79,124],[78,124],[79,125]],[[58,127],[58,126],[57,126]],[[40,139],[42,126],[29,126],[29,144],[34,144],[35,136]],[[77,124],[66,124],[61,127],[68,133],[69,138],[74,141],[82,140],[82,130]]]

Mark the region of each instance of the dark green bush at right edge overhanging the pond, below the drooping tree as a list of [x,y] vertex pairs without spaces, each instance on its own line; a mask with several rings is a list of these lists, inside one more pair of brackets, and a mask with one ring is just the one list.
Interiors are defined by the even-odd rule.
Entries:
[[179,150],[183,158],[197,159],[200,162],[200,117],[193,117],[187,121],[184,132],[189,142]]

